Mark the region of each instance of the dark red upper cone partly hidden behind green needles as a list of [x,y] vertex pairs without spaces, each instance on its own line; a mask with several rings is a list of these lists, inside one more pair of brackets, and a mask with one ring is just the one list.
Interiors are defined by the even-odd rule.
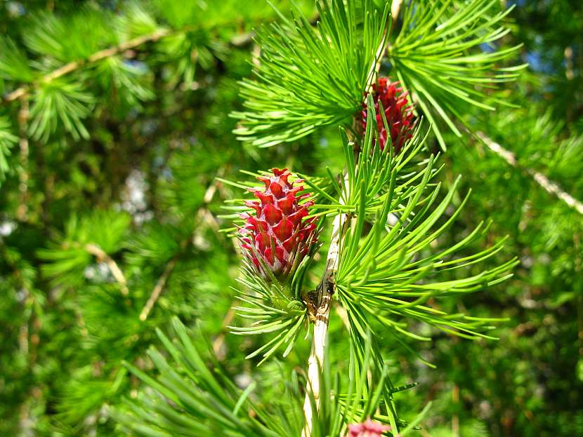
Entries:
[[[384,113],[389,130],[391,131],[391,142],[395,153],[400,152],[405,141],[413,136],[415,126],[415,116],[412,105],[407,106],[407,91],[399,86],[398,82],[391,82],[388,78],[380,78],[372,85],[374,109],[376,111],[376,128],[379,129],[379,142],[381,150],[384,150],[388,138],[383,117],[379,113],[379,100],[383,105]],[[361,124],[362,128],[367,128],[367,105],[362,104]]]

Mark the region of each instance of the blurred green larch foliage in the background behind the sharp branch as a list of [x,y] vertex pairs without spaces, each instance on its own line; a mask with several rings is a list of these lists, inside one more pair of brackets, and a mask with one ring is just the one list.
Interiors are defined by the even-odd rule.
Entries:
[[[448,241],[491,219],[491,241],[508,240],[488,262],[520,265],[441,303],[509,318],[499,341],[410,344],[435,369],[384,344],[395,384],[420,384],[397,396],[401,415],[434,401],[421,436],[583,435],[583,215],[533,177],[583,200],[583,4],[500,3],[516,7],[499,43],[523,43],[515,65],[529,67],[507,87],[516,107],[465,116],[516,166],[451,135],[440,180],[461,174],[460,193],[472,189]],[[216,177],[338,167],[337,131],[269,149],[237,141],[228,114],[258,52],[252,29],[277,17],[263,1],[201,4],[0,2],[1,436],[116,435],[111,407],[138,389],[122,361],[149,370],[145,349],[173,315],[199,323],[225,373],[254,379],[266,402],[280,368],[306,363],[307,341],[256,368],[244,356],[258,339],[226,332],[238,258],[218,229],[240,191]],[[333,318],[340,363],[343,329]]]

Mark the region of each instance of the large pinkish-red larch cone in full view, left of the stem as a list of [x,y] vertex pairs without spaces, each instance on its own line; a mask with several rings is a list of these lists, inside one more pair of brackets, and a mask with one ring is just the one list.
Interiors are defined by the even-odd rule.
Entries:
[[[317,242],[315,217],[308,215],[312,201],[303,191],[303,180],[289,182],[287,168],[272,168],[271,175],[257,179],[265,189],[249,189],[258,201],[246,201],[253,213],[244,213],[245,224],[239,229],[243,254],[264,277],[268,267],[277,277],[292,274],[310,248]],[[303,202],[302,202],[303,201]],[[260,261],[261,259],[261,261]]]

